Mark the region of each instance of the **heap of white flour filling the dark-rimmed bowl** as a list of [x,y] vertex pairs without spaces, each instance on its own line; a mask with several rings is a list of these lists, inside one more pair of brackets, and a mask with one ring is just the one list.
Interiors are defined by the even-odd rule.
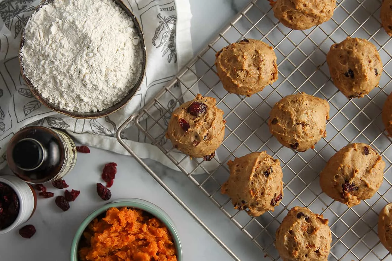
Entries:
[[43,97],[66,110],[96,112],[137,81],[140,40],[113,0],[55,0],[27,22],[22,61]]

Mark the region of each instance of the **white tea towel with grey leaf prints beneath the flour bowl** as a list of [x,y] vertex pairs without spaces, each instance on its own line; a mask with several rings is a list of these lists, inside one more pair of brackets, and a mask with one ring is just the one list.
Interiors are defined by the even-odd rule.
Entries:
[[[145,78],[140,90],[122,110],[100,119],[83,120],[46,108],[33,97],[22,78],[18,60],[21,32],[40,1],[0,0],[0,169],[6,165],[7,143],[26,125],[62,128],[82,144],[128,154],[114,137],[118,126],[154,97],[192,58],[193,52],[188,0],[123,2],[143,28],[147,50]],[[181,86],[171,91],[179,96]],[[185,96],[184,99],[192,98]],[[173,104],[174,99],[167,96],[165,102]],[[162,111],[159,106],[162,105],[155,106],[155,113]],[[122,136],[139,157],[151,158],[177,169],[135,126],[128,128]]]

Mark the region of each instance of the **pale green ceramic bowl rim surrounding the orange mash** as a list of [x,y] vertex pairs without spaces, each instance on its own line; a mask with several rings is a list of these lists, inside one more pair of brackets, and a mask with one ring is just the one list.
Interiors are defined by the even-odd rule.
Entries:
[[107,209],[111,207],[134,207],[135,209],[141,209],[143,211],[149,212],[150,214],[152,214],[152,216],[155,216],[156,218],[161,220],[166,225],[167,229],[169,229],[173,237],[174,244],[177,250],[177,260],[182,261],[180,238],[178,238],[178,234],[174,229],[174,223],[171,220],[171,218],[160,207],[138,198],[120,198],[118,200],[103,205],[102,207],[93,211],[93,213],[89,214],[89,216],[87,216],[87,218],[83,220],[82,225],[80,225],[78,231],[76,231],[75,237],[72,241],[71,261],[79,260],[78,258],[79,240],[83,235],[83,231],[86,229],[89,223],[94,220],[94,218],[106,212]]

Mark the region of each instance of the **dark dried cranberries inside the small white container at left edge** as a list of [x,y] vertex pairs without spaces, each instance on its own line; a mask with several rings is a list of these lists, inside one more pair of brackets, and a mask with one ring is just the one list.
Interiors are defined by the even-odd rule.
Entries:
[[18,213],[18,195],[9,185],[0,182],[0,230],[14,223]]

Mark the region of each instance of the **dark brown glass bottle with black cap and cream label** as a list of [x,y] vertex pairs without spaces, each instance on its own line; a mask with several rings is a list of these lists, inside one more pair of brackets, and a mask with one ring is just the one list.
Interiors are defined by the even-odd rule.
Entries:
[[18,131],[7,147],[7,163],[16,176],[38,184],[58,180],[76,163],[76,146],[60,130],[31,126]]

